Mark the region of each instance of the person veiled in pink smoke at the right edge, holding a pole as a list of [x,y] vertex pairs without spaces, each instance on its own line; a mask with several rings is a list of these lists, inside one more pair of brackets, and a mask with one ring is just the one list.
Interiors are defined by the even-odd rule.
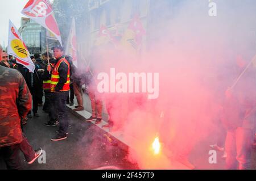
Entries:
[[227,169],[251,168],[256,108],[254,75],[253,69],[248,70],[236,87],[226,91],[222,123],[227,130],[225,144]]

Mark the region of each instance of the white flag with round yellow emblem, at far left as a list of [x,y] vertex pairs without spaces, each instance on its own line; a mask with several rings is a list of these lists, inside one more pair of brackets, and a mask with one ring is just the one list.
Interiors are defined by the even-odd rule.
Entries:
[[18,64],[26,66],[28,70],[34,73],[35,65],[30,58],[30,53],[17,28],[11,21],[9,21],[8,53],[16,58]]

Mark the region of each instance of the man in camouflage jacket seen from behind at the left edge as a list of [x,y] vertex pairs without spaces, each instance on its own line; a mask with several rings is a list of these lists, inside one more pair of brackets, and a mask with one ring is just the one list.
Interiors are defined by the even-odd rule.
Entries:
[[29,164],[42,153],[42,149],[32,150],[20,129],[20,118],[26,117],[31,108],[31,95],[18,71],[0,66],[0,75],[0,87],[6,87],[0,90],[4,103],[0,104],[0,154],[7,169],[20,169],[19,149],[26,152]]

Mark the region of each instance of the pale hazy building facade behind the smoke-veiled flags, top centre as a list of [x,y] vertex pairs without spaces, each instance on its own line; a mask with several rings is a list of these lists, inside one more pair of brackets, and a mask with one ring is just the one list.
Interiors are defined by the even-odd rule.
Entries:
[[[90,28],[86,42],[79,43],[79,49],[90,54],[101,26],[105,26],[113,35],[123,35],[135,15],[139,16],[143,27],[147,29],[150,0],[90,0]],[[146,48],[146,37],[143,37],[143,49]]]

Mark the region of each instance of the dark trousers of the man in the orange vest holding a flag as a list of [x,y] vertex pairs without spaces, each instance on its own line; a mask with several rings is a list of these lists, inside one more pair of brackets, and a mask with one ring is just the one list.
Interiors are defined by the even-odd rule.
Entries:
[[53,93],[53,107],[59,115],[59,136],[65,136],[68,132],[68,112],[66,107],[69,91]]

